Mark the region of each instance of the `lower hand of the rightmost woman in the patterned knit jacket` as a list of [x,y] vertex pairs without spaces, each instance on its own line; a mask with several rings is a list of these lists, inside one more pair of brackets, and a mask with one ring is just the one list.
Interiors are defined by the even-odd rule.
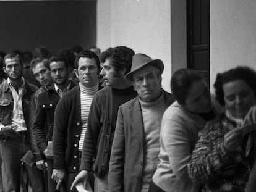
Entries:
[[240,127],[235,128],[234,130],[229,131],[224,135],[224,147],[229,152],[234,152],[238,146],[242,143],[243,133]]

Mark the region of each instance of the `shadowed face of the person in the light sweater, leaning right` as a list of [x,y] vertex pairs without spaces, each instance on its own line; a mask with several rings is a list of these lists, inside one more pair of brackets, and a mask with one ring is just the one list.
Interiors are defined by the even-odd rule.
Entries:
[[192,83],[184,107],[196,114],[211,111],[211,96],[205,81],[200,80]]

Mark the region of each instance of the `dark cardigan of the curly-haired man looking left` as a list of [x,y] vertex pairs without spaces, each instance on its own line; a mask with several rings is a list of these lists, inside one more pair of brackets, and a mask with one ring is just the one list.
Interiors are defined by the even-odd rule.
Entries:
[[[134,91],[132,89],[132,91]],[[134,97],[137,93],[134,91]],[[92,170],[97,177],[108,173],[114,132],[112,125],[112,88],[106,86],[95,94],[88,117],[80,170]],[[134,98],[133,97],[133,98]],[[132,98],[130,98],[132,99]],[[128,99],[127,101],[129,101]]]

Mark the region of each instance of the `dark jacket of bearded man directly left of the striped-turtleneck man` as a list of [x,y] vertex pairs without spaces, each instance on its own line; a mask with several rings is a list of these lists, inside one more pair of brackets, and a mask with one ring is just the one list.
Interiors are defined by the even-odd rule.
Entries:
[[[74,82],[70,81],[70,83],[70,89],[74,88]],[[48,141],[52,141],[54,111],[59,99],[59,94],[54,89],[54,83],[49,90],[46,90],[38,96],[33,131],[36,144],[42,153],[47,148]]]

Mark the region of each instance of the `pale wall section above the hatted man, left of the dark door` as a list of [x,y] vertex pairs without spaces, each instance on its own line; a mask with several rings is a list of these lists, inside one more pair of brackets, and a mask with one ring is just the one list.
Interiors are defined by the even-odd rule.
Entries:
[[163,88],[171,78],[171,1],[98,0],[97,46],[128,46],[164,62]]

